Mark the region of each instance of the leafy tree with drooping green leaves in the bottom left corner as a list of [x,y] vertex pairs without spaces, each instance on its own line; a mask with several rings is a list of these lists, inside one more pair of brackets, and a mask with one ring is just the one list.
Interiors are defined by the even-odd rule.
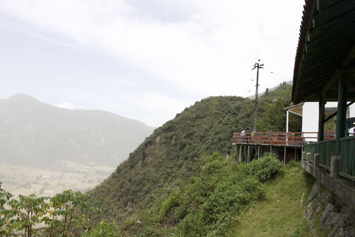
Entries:
[[[89,203],[91,196],[79,191],[74,193],[72,189],[63,190],[51,198],[35,198],[34,194],[30,194],[18,195],[18,200],[9,201],[11,196],[1,189],[1,236],[72,236],[78,229],[88,228],[88,210],[100,212]],[[6,201],[9,209],[3,207]],[[35,228],[38,223],[46,226]]]

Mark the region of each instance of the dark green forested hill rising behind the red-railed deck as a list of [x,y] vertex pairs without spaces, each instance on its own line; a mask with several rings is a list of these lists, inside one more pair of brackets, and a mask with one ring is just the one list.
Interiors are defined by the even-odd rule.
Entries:
[[[276,107],[288,102],[285,98],[290,95],[290,87],[282,85],[260,98],[260,121],[270,110],[277,118]],[[273,102],[279,97],[279,104]],[[285,114],[284,107],[280,113]],[[185,108],[146,138],[109,178],[88,192],[93,206],[102,209],[99,215],[92,216],[93,223],[101,218],[124,221],[151,208],[182,171],[186,169],[174,187],[196,174],[199,167],[193,159],[204,152],[219,152],[222,157],[233,154],[233,133],[246,127],[252,129],[253,115],[254,100],[236,96],[209,97]],[[258,127],[269,129],[262,123]]]

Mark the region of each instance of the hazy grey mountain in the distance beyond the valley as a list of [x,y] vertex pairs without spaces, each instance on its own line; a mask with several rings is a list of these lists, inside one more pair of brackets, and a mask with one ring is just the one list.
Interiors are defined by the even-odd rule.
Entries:
[[116,166],[154,129],[107,111],[64,109],[16,94],[0,99],[0,160],[55,169],[62,160]]

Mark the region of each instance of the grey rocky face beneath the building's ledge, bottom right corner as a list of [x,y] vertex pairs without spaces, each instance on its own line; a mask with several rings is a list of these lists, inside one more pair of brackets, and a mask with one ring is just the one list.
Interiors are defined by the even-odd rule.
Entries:
[[[355,211],[337,195],[316,181],[308,199],[312,201],[308,204],[305,215],[311,228],[315,229],[320,224],[329,237],[355,236]],[[314,236],[320,236],[316,231],[314,233]]]

